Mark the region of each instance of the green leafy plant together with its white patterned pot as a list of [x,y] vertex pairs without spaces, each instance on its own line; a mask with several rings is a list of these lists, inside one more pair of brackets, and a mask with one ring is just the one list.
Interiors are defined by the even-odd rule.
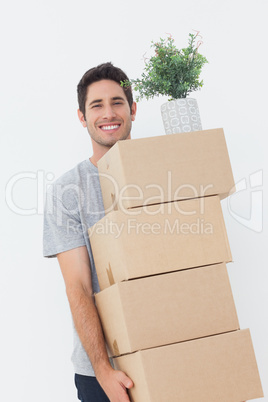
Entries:
[[122,82],[132,85],[138,92],[137,101],[142,98],[167,95],[168,102],[161,106],[166,134],[202,130],[196,99],[188,95],[200,89],[203,81],[199,79],[207,59],[199,52],[200,40],[197,34],[189,34],[188,46],[178,50],[174,39],[160,39],[152,42],[155,54],[145,59],[144,72],[140,79]]

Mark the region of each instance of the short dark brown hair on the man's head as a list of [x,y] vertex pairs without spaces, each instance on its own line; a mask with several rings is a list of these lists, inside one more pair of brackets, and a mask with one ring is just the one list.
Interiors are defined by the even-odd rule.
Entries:
[[[112,80],[121,84],[121,81],[129,81],[128,76],[120,68],[115,67],[112,63],[103,63],[97,67],[93,67],[88,70],[81,78],[79,84],[77,85],[77,96],[79,110],[83,113],[85,117],[85,103],[87,98],[88,86],[93,84],[93,82],[101,80]],[[129,107],[131,109],[133,104],[133,96],[131,87],[122,87],[126,94]]]

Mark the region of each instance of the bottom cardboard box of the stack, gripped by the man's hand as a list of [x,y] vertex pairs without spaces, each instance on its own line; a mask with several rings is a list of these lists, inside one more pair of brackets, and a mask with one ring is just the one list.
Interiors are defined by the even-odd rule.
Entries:
[[134,382],[132,402],[242,402],[263,397],[249,330],[114,359]]

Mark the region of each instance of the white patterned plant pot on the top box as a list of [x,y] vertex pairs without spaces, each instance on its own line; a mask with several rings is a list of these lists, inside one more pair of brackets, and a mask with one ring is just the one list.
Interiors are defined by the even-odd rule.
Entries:
[[166,134],[202,130],[196,99],[175,99],[161,106]]

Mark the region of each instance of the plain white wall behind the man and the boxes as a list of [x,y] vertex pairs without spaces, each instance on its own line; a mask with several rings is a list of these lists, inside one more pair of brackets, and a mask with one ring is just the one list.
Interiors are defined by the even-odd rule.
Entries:
[[[234,259],[228,270],[268,401],[267,11],[266,0],[171,0],[170,7],[140,0],[15,0],[1,6],[1,186],[8,185],[0,226],[1,401],[76,400],[63,280],[57,262],[42,257],[42,203],[53,178],[91,155],[76,117],[79,79],[105,61],[136,78],[151,40],[172,33],[183,47],[193,29],[201,31],[200,52],[210,62],[195,95],[203,128],[224,128],[242,189],[229,207],[223,202]],[[164,134],[159,108],[165,100],[138,105],[133,138]],[[258,186],[250,188],[255,172]]]

